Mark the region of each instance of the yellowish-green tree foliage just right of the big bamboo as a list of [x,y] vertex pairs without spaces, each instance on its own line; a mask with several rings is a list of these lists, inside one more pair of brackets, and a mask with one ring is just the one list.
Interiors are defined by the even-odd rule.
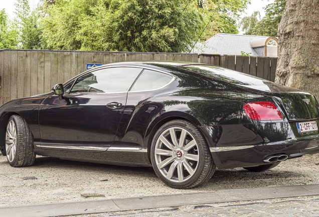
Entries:
[[201,39],[206,40],[216,33],[238,34],[237,20],[248,4],[250,0],[198,0],[198,8],[209,22]]

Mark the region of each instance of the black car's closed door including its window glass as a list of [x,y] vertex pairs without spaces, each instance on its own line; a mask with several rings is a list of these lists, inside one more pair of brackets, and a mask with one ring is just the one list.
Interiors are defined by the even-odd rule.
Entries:
[[114,141],[127,91],[141,68],[111,67],[79,77],[39,110],[42,149],[105,151]]

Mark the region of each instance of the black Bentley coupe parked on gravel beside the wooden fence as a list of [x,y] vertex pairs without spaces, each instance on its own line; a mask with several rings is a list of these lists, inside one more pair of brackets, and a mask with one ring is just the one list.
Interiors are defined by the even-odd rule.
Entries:
[[260,172],[319,152],[318,120],[298,89],[213,65],[123,62],[2,105],[0,149],[14,167],[36,155],[152,166],[191,188],[216,167]]

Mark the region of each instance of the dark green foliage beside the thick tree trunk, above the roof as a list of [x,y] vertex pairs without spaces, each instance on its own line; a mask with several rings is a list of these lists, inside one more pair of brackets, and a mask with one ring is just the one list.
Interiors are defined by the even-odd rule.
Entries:
[[[286,6],[286,0],[275,0],[268,4],[265,9],[265,17],[256,23],[257,14],[245,17],[240,22],[240,26],[245,35],[261,35],[277,37],[278,26]],[[260,15],[259,15],[260,16]],[[248,27],[248,28],[247,28]]]

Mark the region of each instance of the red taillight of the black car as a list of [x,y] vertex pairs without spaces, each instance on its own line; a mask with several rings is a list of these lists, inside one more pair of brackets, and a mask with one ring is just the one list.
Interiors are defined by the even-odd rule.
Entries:
[[282,120],[282,115],[277,106],[268,101],[248,102],[244,104],[247,116],[256,121]]

